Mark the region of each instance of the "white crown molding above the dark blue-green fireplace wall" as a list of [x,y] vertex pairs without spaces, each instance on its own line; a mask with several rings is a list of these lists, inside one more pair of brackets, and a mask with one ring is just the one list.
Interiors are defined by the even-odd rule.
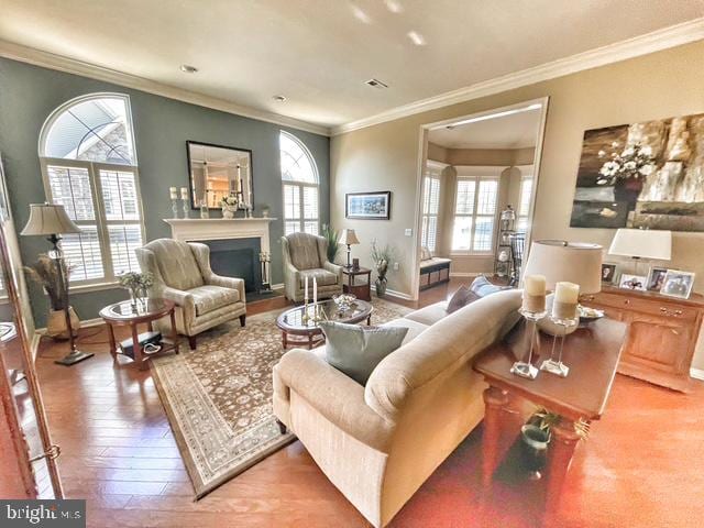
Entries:
[[199,107],[220,110],[235,116],[256,119],[258,121],[266,121],[268,123],[290,127],[292,129],[305,130],[306,132],[312,132],[315,134],[330,135],[330,129],[327,127],[308,123],[306,121],[288,118],[274,112],[267,112],[265,110],[243,107],[224,99],[197,94],[195,91],[165,85],[136,75],[125,74],[114,69],[105,68],[102,66],[96,66],[82,61],[64,57],[62,55],[35,50],[33,47],[23,46],[9,41],[0,40],[0,57],[32,64],[34,66],[42,66],[44,68],[56,69],[58,72],[66,72],[68,74],[90,77],[91,79],[112,82],[134,90],[141,90],[147,94],[166,97],[168,99],[176,99],[178,101],[197,105]]

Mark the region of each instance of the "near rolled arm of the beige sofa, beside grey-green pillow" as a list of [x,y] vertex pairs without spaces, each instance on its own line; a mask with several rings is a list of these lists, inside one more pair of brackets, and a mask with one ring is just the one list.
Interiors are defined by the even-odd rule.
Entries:
[[[356,440],[388,452],[394,422],[364,402],[364,387],[310,351],[288,351],[274,367],[274,392],[284,400],[296,392],[318,413]],[[295,429],[294,429],[294,432]]]

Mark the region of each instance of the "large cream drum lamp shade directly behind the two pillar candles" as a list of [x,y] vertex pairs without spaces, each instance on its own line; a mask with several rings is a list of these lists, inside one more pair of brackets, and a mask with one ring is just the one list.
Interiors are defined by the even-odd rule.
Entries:
[[522,276],[544,275],[546,287],[554,289],[560,282],[580,285],[580,293],[602,290],[602,246],[563,240],[538,240],[530,253]]

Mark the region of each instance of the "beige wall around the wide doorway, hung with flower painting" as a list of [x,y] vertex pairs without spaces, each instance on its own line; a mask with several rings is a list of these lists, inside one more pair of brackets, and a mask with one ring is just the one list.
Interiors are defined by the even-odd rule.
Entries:
[[[400,272],[389,288],[411,294],[419,131],[425,123],[550,97],[534,238],[562,238],[608,245],[613,230],[570,228],[570,213],[585,130],[704,111],[704,41],[642,57],[538,82],[472,101],[410,116],[334,136],[331,141],[331,219],[337,229],[358,228],[359,256],[369,263],[373,237],[398,249]],[[391,190],[391,221],[344,219],[344,193]],[[415,230],[414,230],[415,234]],[[697,274],[704,290],[704,234],[675,233],[672,267]],[[695,361],[704,369],[704,353]]]

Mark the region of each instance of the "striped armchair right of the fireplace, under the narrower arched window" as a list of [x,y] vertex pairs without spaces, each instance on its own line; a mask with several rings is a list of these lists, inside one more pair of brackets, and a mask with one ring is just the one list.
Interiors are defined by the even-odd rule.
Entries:
[[292,233],[282,237],[284,253],[284,286],[286,297],[298,302],[304,300],[304,282],[308,277],[308,289],[312,279],[318,283],[318,298],[342,293],[342,266],[328,261],[328,242],[322,237],[308,233]]

